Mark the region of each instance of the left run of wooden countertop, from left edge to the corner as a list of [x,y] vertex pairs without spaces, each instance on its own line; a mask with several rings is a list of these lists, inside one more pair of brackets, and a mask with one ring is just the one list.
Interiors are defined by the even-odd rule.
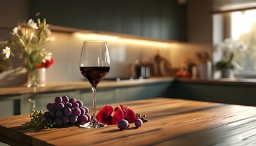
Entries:
[[[133,81],[130,80],[121,80],[120,82],[102,80],[99,83],[98,88],[115,88],[122,86],[138,86],[138,85],[147,85],[152,83],[162,83],[162,82],[172,82],[173,77],[157,77],[157,78],[145,78],[145,79],[136,79]],[[37,92],[57,92],[57,91],[69,91],[76,89],[91,89],[90,83],[86,80],[77,81],[77,82],[56,82],[48,83],[45,87],[38,87]],[[27,88],[24,86],[11,86],[0,88],[0,96],[4,95],[14,95],[14,94],[27,94],[34,92],[34,88]]]

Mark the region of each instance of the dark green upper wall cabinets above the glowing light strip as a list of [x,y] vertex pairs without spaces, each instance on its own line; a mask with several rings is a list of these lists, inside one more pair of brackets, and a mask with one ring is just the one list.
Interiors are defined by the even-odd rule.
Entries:
[[187,40],[187,4],[169,0],[30,2],[30,16],[55,26],[124,33],[157,40]]

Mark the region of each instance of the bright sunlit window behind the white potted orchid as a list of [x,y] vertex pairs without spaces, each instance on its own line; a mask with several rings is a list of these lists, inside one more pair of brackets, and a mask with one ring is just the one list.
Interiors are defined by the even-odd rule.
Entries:
[[242,67],[240,73],[256,74],[256,9],[230,13],[230,37],[247,46],[235,52],[234,60]]

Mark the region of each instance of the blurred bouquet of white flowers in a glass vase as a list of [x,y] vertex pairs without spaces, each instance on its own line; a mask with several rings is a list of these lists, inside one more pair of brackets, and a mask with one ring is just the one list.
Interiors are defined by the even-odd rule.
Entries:
[[[44,44],[54,38],[50,37],[51,30],[49,24],[46,24],[46,19],[41,22],[37,19],[37,23],[33,19],[17,26],[12,30],[12,41],[4,41],[5,44],[10,44],[13,47],[20,48],[22,54],[20,57],[25,59],[27,71],[29,73],[28,87],[37,86],[35,71],[38,66],[54,62],[52,53],[44,48]],[[6,47],[3,50],[5,58],[10,56],[10,48]]]

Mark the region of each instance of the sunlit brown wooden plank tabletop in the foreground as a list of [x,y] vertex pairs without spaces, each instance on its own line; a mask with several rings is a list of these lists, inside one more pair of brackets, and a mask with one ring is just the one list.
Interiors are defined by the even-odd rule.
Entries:
[[116,125],[41,129],[30,127],[29,115],[2,117],[0,141],[10,145],[256,145],[256,107],[166,98],[123,105],[146,114],[148,122],[140,128],[131,124],[123,131]]

